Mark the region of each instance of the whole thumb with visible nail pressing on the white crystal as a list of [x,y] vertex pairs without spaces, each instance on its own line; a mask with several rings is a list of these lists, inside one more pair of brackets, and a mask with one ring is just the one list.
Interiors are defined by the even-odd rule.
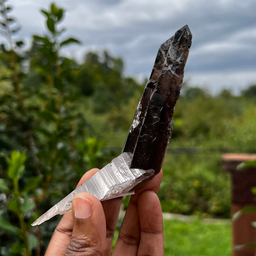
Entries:
[[106,220],[100,201],[88,193],[77,194],[72,202],[73,232],[65,256],[102,255]]

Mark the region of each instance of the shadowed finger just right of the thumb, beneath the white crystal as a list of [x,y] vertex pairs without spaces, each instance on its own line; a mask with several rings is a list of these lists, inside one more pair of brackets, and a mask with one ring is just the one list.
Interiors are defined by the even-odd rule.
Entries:
[[116,230],[116,223],[122,203],[122,197],[102,201],[106,219],[106,244],[103,255],[110,255],[112,250],[113,236]]

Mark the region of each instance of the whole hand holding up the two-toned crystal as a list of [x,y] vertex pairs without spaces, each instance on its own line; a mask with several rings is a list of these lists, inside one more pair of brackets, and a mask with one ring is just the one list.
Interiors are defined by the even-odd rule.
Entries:
[[[77,186],[98,171],[86,172]],[[163,217],[156,195],[162,175],[161,170],[131,196],[112,256],[164,255]],[[121,197],[100,202],[91,194],[77,194],[72,212],[60,220],[45,256],[111,255],[121,202]]]

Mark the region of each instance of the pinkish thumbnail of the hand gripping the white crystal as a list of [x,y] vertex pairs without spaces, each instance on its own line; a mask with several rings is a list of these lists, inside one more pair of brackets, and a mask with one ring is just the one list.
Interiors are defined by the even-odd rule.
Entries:
[[74,198],[75,217],[77,219],[86,219],[92,215],[92,202],[83,196]]

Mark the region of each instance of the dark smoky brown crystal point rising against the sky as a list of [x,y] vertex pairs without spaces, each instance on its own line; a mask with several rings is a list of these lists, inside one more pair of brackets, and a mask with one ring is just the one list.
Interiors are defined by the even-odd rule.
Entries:
[[161,44],[149,81],[137,106],[123,152],[132,156],[131,168],[160,172],[172,136],[172,116],[180,95],[184,67],[191,46],[188,25]]

